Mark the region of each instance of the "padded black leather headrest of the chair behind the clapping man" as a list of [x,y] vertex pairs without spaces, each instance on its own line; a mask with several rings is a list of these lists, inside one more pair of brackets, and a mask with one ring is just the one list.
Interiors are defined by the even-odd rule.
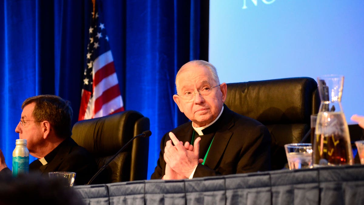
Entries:
[[225,104],[263,124],[309,124],[316,89],[309,77],[229,83]]

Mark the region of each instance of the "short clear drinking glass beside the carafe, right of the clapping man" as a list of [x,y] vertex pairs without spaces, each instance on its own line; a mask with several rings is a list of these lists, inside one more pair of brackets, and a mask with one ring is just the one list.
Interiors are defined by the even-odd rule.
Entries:
[[312,144],[285,144],[286,156],[290,170],[312,168]]

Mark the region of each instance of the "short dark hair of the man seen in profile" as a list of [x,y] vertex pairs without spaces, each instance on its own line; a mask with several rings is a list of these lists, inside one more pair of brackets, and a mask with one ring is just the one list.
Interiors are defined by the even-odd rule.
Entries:
[[34,120],[49,121],[55,134],[60,138],[68,138],[72,135],[73,114],[68,100],[55,95],[38,95],[27,98],[21,105],[21,109],[33,102],[35,103],[32,113]]

